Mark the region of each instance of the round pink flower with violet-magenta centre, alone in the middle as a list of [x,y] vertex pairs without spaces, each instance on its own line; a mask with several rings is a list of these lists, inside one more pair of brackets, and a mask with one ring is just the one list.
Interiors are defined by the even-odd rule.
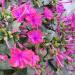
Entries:
[[40,44],[43,42],[43,34],[40,30],[32,30],[28,32],[28,38],[32,44]]

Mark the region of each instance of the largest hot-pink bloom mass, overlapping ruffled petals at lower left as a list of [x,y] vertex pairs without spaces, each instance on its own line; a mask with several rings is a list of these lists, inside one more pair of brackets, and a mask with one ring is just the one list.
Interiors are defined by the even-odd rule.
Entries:
[[27,66],[34,67],[39,61],[39,56],[31,50],[20,50],[18,48],[13,48],[11,51],[11,58],[9,63],[12,67],[25,68]]

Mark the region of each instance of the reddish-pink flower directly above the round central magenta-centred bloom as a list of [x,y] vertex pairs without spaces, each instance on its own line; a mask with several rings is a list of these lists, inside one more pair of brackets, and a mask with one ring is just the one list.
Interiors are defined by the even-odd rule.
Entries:
[[35,13],[29,16],[26,16],[26,20],[29,24],[32,25],[32,28],[38,28],[42,24],[42,15]]

